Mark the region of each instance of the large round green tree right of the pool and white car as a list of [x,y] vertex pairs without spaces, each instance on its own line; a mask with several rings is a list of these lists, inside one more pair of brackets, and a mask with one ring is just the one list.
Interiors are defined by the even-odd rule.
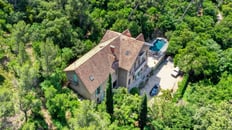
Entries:
[[175,65],[190,74],[190,80],[193,77],[194,80],[197,80],[216,76],[212,74],[217,70],[218,53],[201,44],[203,43],[195,38],[195,40],[188,42],[184,49],[180,49],[179,54],[174,58]]

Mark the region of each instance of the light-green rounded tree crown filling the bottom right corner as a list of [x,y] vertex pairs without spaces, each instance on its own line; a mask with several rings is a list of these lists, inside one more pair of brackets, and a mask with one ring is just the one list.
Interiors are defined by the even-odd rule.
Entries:
[[194,129],[229,130],[232,129],[232,105],[228,102],[209,104],[197,110]]

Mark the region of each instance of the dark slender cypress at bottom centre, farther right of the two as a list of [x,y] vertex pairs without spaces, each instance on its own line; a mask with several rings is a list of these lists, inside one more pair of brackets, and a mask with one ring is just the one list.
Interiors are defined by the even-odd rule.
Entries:
[[144,126],[146,126],[147,122],[147,96],[143,96],[143,100],[141,103],[140,113],[139,113],[139,127],[143,130]]

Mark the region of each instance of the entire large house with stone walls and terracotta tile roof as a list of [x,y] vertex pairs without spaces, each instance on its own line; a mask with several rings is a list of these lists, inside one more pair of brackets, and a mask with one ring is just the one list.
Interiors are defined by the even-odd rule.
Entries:
[[97,102],[104,99],[109,74],[114,88],[138,87],[149,73],[148,50],[142,34],[133,38],[129,30],[108,30],[96,47],[64,69],[69,86]]

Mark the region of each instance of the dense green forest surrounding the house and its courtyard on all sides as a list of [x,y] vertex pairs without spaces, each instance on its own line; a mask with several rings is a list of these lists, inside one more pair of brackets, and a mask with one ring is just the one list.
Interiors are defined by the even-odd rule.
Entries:
[[[179,89],[79,100],[63,69],[127,28],[169,40]],[[0,129],[232,129],[232,1],[0,0],[0,101]]]

